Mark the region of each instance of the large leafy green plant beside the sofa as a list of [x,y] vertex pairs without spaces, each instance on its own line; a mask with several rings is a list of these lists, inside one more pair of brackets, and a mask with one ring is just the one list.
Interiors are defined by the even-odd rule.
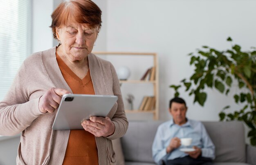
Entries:
[[[228,42],[232,39],[227,38]],[[230,88],[238,85],[234,94],[237,104],[244,103],[242,109],[226,113],[227,105],[219,113],[220,120],[241,120],[249,127],[248,137],[252,145],[256,146],[256,49],[242,51],[239,45],[232,45],[231,49],[218,51],[203,46],[195,53],[190,53],[190,65],[195,69],[189,79],[181,80],[180,85],[171,85],[175,96],[179,96],[179,88],[184,86],[189,96],[194,96],[194,103],[204,106],[207,100],[205,88],[217,89],[220,93],[228,95]]]

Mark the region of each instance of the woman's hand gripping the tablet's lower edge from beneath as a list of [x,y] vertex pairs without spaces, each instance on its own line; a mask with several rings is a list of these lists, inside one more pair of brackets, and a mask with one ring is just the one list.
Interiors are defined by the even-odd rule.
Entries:
[[115,132],[115,125],[109,117],[90,117],[90,120],[84,120],[82,123],[83,129],[90,132],[96,137],[107,137]]

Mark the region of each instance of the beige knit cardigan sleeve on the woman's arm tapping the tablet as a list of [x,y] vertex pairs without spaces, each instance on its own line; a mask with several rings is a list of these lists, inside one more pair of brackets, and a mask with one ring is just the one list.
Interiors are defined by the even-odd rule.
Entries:
[[0,101],[0,135],[19,134],[42,114],[38,109],[39,98],[29,100],[25,71],[23,63],[6,96]]

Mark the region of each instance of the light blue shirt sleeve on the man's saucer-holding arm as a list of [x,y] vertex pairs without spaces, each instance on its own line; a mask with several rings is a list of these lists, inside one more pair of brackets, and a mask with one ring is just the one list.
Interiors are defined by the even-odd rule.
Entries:
[[204,125],[202,125],[202,157],[211,158],[212,160],[215,158],[215,145],[211,141],[211,138],[209,137]]

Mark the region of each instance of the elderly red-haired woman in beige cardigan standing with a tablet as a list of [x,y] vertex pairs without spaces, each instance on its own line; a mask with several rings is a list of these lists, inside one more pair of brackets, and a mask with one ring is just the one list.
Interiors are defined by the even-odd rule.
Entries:
[[[111,140],[128,127],[119,80],[110,62],[91,53],[101,10],[90,0],[65,0],[52,13],[58,47],[29,56],[0,103],[0,134],[20,132],[18,165],[112,165]],[[63,94],[116,95],[106,118],[93,116],[83,130],[53,131]]]

